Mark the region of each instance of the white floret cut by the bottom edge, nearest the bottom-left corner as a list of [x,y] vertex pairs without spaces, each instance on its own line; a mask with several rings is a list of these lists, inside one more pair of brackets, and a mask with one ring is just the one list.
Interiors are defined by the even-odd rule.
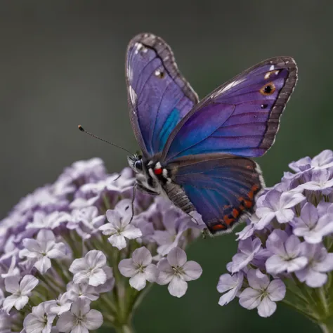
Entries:
[[54,313],[50,313],[53,301],[40,303],[32,308],[32,313],[25,317],[23,327],[27,333],[50,333],[52,323],[55,318]]

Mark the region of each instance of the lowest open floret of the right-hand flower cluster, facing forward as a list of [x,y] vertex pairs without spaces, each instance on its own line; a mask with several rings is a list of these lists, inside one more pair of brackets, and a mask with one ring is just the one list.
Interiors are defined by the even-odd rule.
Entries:
[[280,279],[270,281],[259,269],[247,272],[249,287],[240,294],[240,305],[252,310],[258,309],[261,317],[269,317],[276,310],[276,301],[285,297],[286,287]]

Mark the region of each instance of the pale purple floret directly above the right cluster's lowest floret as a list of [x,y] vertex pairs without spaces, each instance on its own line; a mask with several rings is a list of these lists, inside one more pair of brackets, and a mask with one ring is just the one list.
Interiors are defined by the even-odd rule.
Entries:
[[301,241],[295,235],[289,236],[285,231],[274,230],[266,241],[266,248],[273,256],[266,261],[266,270],[270,274],[292,273],[301,270],[308,263],[301,255]]

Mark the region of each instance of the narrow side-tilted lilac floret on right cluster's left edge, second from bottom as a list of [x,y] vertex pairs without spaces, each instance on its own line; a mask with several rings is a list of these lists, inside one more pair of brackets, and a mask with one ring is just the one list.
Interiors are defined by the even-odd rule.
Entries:
[[231,273],[240,271],[242,268],[250,263],[256,254],[261,251],[261,240],[259,238],[247,238],[246,240],[240,240],[238,242],[239,253],[233,256],[233,263],[230,266]]

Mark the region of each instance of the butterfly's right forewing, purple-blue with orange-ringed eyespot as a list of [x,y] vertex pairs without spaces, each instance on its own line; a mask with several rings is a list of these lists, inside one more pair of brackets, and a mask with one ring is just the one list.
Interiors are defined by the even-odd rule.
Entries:
[[169,136],[166,162],[213,152],[259,157],[275,140],[297,79],[290,57],[259,63],[204,98]]

